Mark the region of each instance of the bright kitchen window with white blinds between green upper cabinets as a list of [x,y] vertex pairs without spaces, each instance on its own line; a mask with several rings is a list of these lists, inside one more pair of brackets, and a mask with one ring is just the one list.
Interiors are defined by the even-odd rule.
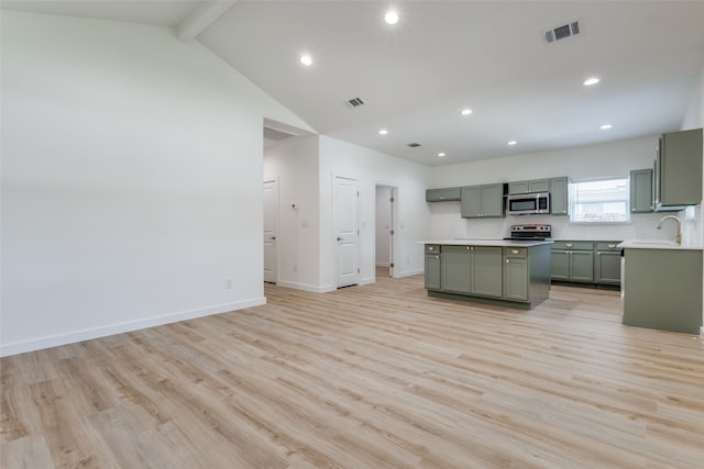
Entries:
[[628,178],[573,182],[570,185],[570,221],[627,222],[629,196]]

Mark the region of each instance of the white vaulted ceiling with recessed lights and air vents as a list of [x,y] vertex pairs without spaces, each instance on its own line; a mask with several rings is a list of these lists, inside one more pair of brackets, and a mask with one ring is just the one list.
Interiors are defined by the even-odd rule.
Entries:
[[[173,27],[318,133],[429,166],[676,130],[704,67],[704,1],[3,0],[2,8]],[[384,21],[389,9],[397,24]],[[544,40],[574,22],[578,34]],[[586,87],[590,77],[601,81]],[[363,104],[351,107],[355,98]]]

